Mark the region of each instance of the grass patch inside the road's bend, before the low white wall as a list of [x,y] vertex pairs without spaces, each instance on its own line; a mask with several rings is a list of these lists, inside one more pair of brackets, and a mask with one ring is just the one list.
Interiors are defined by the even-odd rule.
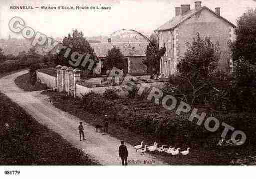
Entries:
[[14,80],[14,82],[19,88],[23,89],[24,91],[40,91],[49,89],[45,84],[41,84],[38,82],[36,82],[35,85],[31,85],[31,83],[29,82],[28,73],[18,76]]

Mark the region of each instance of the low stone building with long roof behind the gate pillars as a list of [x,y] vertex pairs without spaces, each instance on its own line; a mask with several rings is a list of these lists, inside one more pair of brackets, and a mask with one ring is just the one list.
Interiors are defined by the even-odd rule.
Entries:
[[90,43],[94,49],[97,57],[102,61],[101,74],[106,74],[104,61],[107,56],[108,50],[114,46],[119,48],[124,55],[123,58],[123,71],[125,74],[143,75],[147,73],[147,67],[143,64],[143,59],[146,58],[145,50],[148,42],[108,42]]

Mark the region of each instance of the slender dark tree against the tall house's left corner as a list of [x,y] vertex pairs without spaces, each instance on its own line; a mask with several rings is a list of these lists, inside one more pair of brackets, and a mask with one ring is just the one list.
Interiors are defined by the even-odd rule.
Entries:
[[158,76],[160,72],[160,59],[164,56],[166,48],[164,46],[159,49],[158,40],[155,35],[150,36],[150,41],[145,51],[146,59],[143,60],[143,63],[147,66],[149,73]]

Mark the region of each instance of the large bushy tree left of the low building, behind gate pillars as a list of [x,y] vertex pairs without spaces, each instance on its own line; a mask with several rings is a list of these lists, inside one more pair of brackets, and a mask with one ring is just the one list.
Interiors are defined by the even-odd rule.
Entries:
[[[67,37],[65,36],[63,38],[62,44],[66,47],[71,46],[71,52],[69,53],[67,58],[64,59],[64,54],[66,52],[66,49],[60,50],[60,52],[58,53],[58,61],[60,62],[61,65],[71,66],[69,63],[69,60],[71,60],[72,52],[78,52],[80,55],[84,55],[84,56],[86,54],[89,54],[90,59],[94,60],[94,66],[96,65],[97,57],[96,57],[96,54],[94,53],[94,49],[90,46],[89,41],[84,37],[82,31],[78,32],[77,29],[74,29],[72,31],[72,34],[69,33]],[[82,60],[75,67],[78,67],[84,70],[87,69],[87,66],[89,64],[87,64],[86,66],[82,66],[81,63],[82,63]],[[91,70],[90,73],[92,72],[93,71]]]

